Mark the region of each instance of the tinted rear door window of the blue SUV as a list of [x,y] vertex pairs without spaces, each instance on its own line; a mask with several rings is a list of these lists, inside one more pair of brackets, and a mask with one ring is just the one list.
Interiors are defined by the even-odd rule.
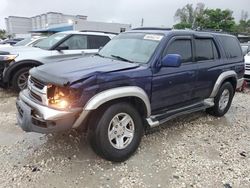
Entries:
[[213,39],[195,39],[195,60],[209,61],[219,58]]

